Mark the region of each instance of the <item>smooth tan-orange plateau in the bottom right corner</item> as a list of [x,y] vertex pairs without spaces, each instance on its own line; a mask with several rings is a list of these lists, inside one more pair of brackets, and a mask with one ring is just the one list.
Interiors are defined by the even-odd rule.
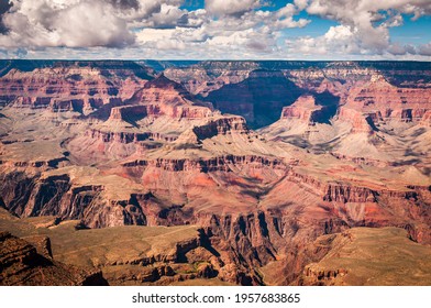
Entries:
[[354,228],[324,235],[316,250],[329,252],[306,266],[300,285],[428,286],[431,283],[429,246],[419,245],[396,228]]

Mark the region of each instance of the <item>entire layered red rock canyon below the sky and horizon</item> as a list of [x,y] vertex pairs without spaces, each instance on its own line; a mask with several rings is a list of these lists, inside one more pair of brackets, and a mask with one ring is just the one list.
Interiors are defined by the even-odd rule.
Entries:
[[0,61],[0,285],[431,285],[431,63]]

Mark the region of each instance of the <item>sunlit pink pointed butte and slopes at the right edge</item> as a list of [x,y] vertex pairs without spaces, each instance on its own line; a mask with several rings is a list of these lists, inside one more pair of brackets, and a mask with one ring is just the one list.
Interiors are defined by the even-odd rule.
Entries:
[[369,165],[413,164],[427,173],[430,162],[423,154],[431,150],[427,139],[427,112],[431,108],[427,91],[397,88],[382,75],[373,75],[369,81],[354,84],[349,95],[341,97],[336,114],[327,123],[301,119],[298,114],[305,110],[298,100],[285,108],[279,121],[261,132],[267,139],[318,154],[331,153],[341,160]]

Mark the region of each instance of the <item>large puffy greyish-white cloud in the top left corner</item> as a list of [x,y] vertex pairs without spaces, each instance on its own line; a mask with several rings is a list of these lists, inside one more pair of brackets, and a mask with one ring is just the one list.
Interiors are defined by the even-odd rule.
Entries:
[[7,47],[123,47],[134,41],[126,22],[106,1],[15,0],[3,15]]

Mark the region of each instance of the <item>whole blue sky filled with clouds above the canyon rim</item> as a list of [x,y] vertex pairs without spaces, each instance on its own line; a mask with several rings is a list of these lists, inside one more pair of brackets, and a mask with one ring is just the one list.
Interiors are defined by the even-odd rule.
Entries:
[[0,58],[431,61],[431,0],[0,0]]

